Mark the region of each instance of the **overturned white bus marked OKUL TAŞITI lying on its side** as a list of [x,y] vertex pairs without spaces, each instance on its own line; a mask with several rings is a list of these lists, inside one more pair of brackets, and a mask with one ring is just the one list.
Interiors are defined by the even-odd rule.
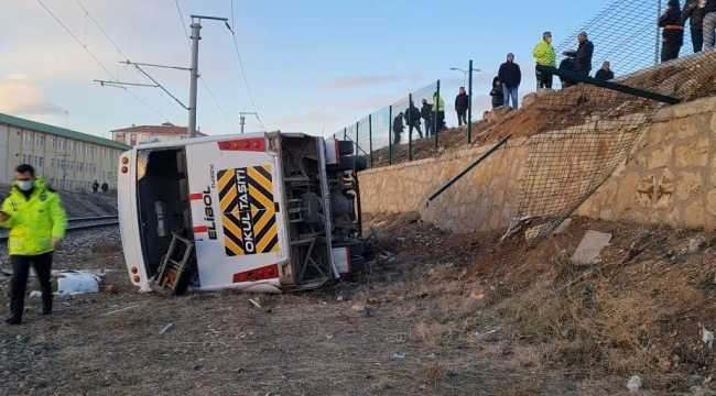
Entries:
[[173,235],[193,241],[177,294],[310,289],[361,271],[372,251],[360,235],[356,177],[366,163],[349,154],[351,146],[271,132],[141,144],[123,153],[118,201],[132,284],[156,289]]

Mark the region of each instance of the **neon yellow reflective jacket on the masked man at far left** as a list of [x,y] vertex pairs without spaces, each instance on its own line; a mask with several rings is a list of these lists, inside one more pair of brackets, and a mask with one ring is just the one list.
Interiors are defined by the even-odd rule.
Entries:
[[47,187],[42,177],[35,177],[30,198],[12,184],[10,195],[2,202],[2,211],[10,215],[0,227],[10,229],[8,248],[11,255],[37,255],[52,252],[52,240],[62,240],[67,217],[59,196]]

